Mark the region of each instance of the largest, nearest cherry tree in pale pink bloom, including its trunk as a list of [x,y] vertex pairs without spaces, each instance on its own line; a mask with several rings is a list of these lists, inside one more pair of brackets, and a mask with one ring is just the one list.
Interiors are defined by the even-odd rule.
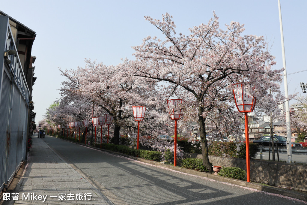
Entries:
[[168,13],[162,20],[145,19],[162,32],[165,40],[148,36],[134,46],[136,60],[131,72],[160,82],[164,95],[185,100],[184,120],[198,121],[203,163],[212,172],[206,135],[239,133],[232,85],[255,85],[248,92],[261,99],[269,87],[277,88],[281,70],[271,69],[274,57],[264,50],[262,36],[243,35],[244,25],[238,22],[222,30],[215,13],[207,24],[190,28],[188,36],[176,35],[173,17]]

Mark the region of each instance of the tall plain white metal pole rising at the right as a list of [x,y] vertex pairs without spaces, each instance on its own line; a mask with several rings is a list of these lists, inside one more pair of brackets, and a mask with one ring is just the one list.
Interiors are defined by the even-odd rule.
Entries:
[[284,45],[284,34],[282,32],[282,10],[280,7],[280,0],[278,0],[278,10],[279,10],[279,24],[280,24],[280,36],[282,40],[282,65],[284,67],[284,86],[285,86],[285,97],[286,97],[286,127],[287,127],[287,163],[292,163],[292,150],[291,150],[291,126],[290,126],[290,110],[289,110],[289,100],[288,100],[288,82],[287,82],[287,70],[286,70],[286,54]]

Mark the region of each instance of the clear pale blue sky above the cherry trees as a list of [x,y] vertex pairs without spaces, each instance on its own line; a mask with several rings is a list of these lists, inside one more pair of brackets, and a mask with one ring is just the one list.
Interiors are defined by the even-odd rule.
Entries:
[[[32,56],[37,57],[32,92],[36,122],[60,98],[58,89],[65,78],[59,68],[84,67],[85,58],[118,65],[121,58],[134,59],[131,46],[140,45],[143,38],[162,37],[144,16],[161,19],[167,12],[173,16],[176,33],[189,35],[189,28],[207,24],[215,11],[221,29],[235,21],[245,25],[244,34],[264,36],[276,57],[273,69],[283,67],[278,0],[15,0],[14,6],[0,1],[2,12],[37,34],[32,47]],[[305,0],[281,0],[289,94],[305,95],[299,84],[307,83],[306,8]]]

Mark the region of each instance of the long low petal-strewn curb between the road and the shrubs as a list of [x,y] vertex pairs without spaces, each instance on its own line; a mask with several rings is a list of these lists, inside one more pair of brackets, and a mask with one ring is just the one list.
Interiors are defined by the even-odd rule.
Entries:
[[[62,139],[62,138],[59,138],[59,139]],[[66,140],[66,139],[62,139],[62,140],[72,142],[72,141]],[[120,153],[120,152],[114,152],[114,151],[111,151],[111,150],[91,147],[89,145],[81,144],[81,143],[78,143],[78,142],[72,142],[72,143],[79,144],[79,145],[84,146],[84,147],[93,148],[93,149],[96,149],[96,150],[100,150],[100,151],[109,152],[109,153],[113,153],[113,154],[116,154],[116,155],[124,156],[124,157],[130,158],[130,159],[136,160],[136,161],[144,162],[146,164],[152,164],[152,165],[155,165],[155,166],[158,166],[158,167],[163,167],[163,168],[168,168],[168,169],[171,169],[171,170],[179,171],[179,172],[182,172],[182,173],[185,173],[185,174],[192,174],[192,175],[196,175],[196,176],[206,177],[206,178],[214,179],[214,180],[220,181],[220,182],[231,183],[231,184],[234,184],[234,185],[252,188],[252,189],[259,190],[259,191],[266,191],[268,193],[279,194],[279,195],[283,195],[283,196],[286,196],[286,197],[291,197],[291,198],[294,198],[294,199],[299,199],[299,200],[307,202],[307,193],[306,194],[297,193],[297,192],[294,192],[294,191],[284,190],[284,189],[278,188],[278,187],[268,187],[268,186],[264,186],[264,185],[261,185],[261,184],[246,182],[246,181],[242,181],[242,180],[238,180],[238,179],[232,179],[232,178],[228,178],[228,177],[224,177],[224,176],[220,176],[220,175],[214,175],[214,174],[210,174],[210,173],[206,173],[206,172],[200,172],[200,171],[190,170],[190,169],[181,168],[181,167],[174,167],[174,166],[171,166],[171,165],[162,164],[160,162],[144,160],[142,158],[129,156],[129,155],[126,155],[126,154],[123,154],[123,153]]]

